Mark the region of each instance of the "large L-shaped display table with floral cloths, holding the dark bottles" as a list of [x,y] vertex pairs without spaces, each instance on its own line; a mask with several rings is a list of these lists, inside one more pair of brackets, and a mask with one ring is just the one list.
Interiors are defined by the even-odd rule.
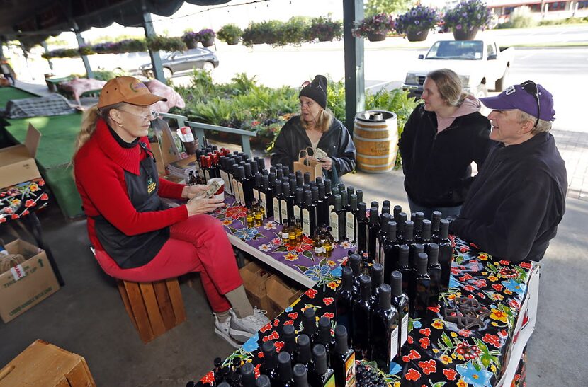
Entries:
[[[281,225],[268,219],[264,226],[247,228],[242,223],[244,215],[243,207],[234,205],[215,213],[232,241],[237,238],[239,244],[248,246],[247,251],[266,254],[264,262],[273,259],[277,262],[273,265],[290,267],[292,270],[285,271],[285,275],[295,272],[292,278],[300,279],[301,274],[315,282],[312,289],[225,359],[227,365],[239,357],[253,362],[259,370],[263,361],[261,343],[273,340],[276,348],[281,349],[283,325],[300,327],[306,308],[315,308],[319,317],[335,317],[334,300],[341,285],[340,264],[354,246],[342,243],[331,258],[319,260],[310,253],[310,243],[291,250],[283,246],[276,236]],[[535,323],[539,265],[494,260],[460,238],[451,236],[451,242],[454,261],[450,289],[441,294],[437,307],[429,308],[428,316],[409,320],[407,343],[401,356],[390,364],[385,379],[392,386],[482,387],[519,383],[524,380],[524,348]],[[256,252],[255,256],[259,254]],[[463,298],[477,301],[482,307],[480,324],[469,329],[459,328],[446,315],[448,308]],[[212,372],[200,379],[203,383],[213,380]]]

